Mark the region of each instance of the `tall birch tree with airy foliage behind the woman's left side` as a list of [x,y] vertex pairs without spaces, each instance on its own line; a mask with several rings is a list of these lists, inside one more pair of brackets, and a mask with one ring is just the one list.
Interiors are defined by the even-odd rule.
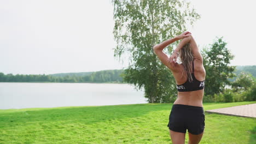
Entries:
[[[155,55],[153,46],[185,31],[186,25],[193,25],[200,15],[188,2],[178,0],[112,2],[114,57],[120,60],[124,54],[130,56],[124,81],[132,83],[136,89],[144,87],[149,103],[170,103],[177,94],[175,80]],[[174,44],[168,46],[167,53]]]

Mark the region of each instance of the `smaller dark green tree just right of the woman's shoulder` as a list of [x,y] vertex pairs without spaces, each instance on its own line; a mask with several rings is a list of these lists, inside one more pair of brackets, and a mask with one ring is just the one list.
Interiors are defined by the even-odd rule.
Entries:
[[205,94],[214,95],[230,85],[229,78],[235,76],[234,66],[229,66],[234,55],[226,47],[223,37],[214,40],[210,49],[203,49],[203,65],[206,70]]

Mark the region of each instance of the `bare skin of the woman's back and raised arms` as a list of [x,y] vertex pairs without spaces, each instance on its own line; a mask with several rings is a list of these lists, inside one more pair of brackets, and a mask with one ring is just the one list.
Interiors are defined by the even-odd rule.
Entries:
[[[172,53],[170,58],[166,55],[164,51],[162,51],[167,45],[172,44],[174,41],[182,39],[178,44],[175,52]],[[184,32],[181,35],[178,35],[175,38],[166,40],[161,44],[155,45],[153,50],[155,54],[158,56],[160,61],[166,65],[168,69],[172,71],[172,74],[176,80],[177,85],[181,85],[188,80],[188,77],[185,75],[182,77],[183,65],[177,64],[175,61],[177,60],[178,54],[177,52],[182,49],[182,47],[190,43],[191,50],[194,58],[194,76],[197,80],[203,81],[205,80],[205,68],[203,68],[203,58],[200,53],[197,44],[192,37],[191,33]],[[202,99],[203,99],[203,89],[197,91],[190,92],[178,92],[178,98],[174,101],[173,104],[184,104],[184,105],[193,105],[193,106],[201,106],[202,107]]]

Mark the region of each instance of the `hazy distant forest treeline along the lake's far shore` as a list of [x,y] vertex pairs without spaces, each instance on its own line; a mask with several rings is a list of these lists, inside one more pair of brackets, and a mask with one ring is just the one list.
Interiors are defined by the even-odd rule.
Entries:
[[[83,73],[60,73],[50,75],[4,75],[0,73],[0,82],[95,82],[95,83],[124,83],[123,74],[124,70],[101,70],[95,72]],[[256,77],[256,65],[237,66],[236,75],[241,72],[252,74]],[[234,81],[232,79],[231,81]]]

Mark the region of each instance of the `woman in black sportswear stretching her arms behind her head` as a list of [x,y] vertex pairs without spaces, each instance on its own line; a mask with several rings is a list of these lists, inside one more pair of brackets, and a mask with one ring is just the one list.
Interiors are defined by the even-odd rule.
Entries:
[[[162,50],[176,40],[181,40],[170,58]],[[205,129],[202,99],[205,86],[203,58],[190,32],[166,40],[153,47],[160,61],[166,65],[176,80],[178,97],[172,105],[167,127],[173,144],[184,143],[188,129],[189,144],[199,143]],[[178,64],[180,57],[182,64]]]

